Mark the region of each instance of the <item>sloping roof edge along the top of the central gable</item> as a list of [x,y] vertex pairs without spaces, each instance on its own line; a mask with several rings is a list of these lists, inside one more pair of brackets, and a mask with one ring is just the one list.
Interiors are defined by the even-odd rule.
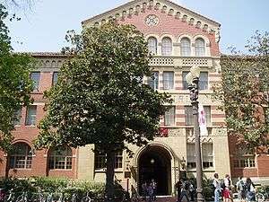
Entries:
[[[85,24],[85,23],[87,23],[87,22],[94,21],[95,19],[99,18],[101,15],[105,15],[105,14],[108,14],[108,13],[111,13],[111,12],[115,12],[115,11],[120,10],[121,8],[125,7],[126,5],[133,4],[135,1],[137,1],[137,0],[133,0],[133,1],[128,2],[128,3],[126,3],[126,4],[121,4],[121,5],[117,6],[117,7],[114,8],[114,9],[108,10],[107,12],[100,13],[100,14],[98,14],[98,15],[94,15],[94,16],[92,16],[91,18],[82,21],[82,22],[81,22],[81,23],[82,23],[82,26],[83,26],[83,24]],[[143,1],[143,0],[140,0],[140,2],[141,2],[141,1]],[[204,15],[202,15],[202,14],[200,14],[200,13],[195,13],[195,12],[193,12],[193,11],[187,9],[186,7],[183,7],[183,6],[179,5],[179,4],[176,4],[176,3],[174,3],[174,2],[171,2],[170,0],[164,0],[164,1],[169,2],[169,4],[173,4],[173,5],[175,5],[175,6],[178,6],[178,7],[180,7],[181,9],[184,9],[184,10],[186,10],[186,11],[189,12],[189,13],[196,14],[196,15],[198,15],[199,17],[202,17],[202,18],[204,18],[205,20],[207,20],[207,21],[209,21],[209,22],[213,22],[213,23],[216,24],[218,27],[221,27],[221,23],[219,23],[219,22],[215,22],[215,21],[211,20],[211,19],[208,18],[208,17],[204,17]]]

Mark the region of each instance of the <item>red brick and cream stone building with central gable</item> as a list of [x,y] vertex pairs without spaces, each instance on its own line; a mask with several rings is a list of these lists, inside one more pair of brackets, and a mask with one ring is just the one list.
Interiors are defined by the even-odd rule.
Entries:
[[[171,195],[180,174],[195,176],[193,116],[185,78],[191,66],[202,69],[199,101],[204,106],[208,128],[208,135],[201,136],[204,176],[211,178],[214,172],[219,172],[221,177],[231,173],[232,177],[244,175],[265,180],[269,176],[265,166],[269,165],[268,155],[234,154],[234,140],[228,138],[223,127],[225,114],[217,110],[219,103],[211,100],[212,85],[221,79],[221,25],[169,0],[134,0],[86,20],[82,26],[99,26],[111,18],[134,24],[143,32],[154,54],[150,63],[154,79],[145,80],[152,88],[169,92],[174,98],[171,110],[161,119],[162,136],[156,136],[147,146],[130,145],[134,151],[132,158],[125,151],[116,154],[116,178],[122,186],[139,189],[142,181],[155,179],[158,194]],[[105,156],[93,154],[94,145],[32,150],[32,140],[39,133],[37,124],[44,116],[43,92],[56,83],[59,67],[66,59],[58,53],[32,53],[32,56],[40,61],[39,69],[30,75],[36,83],[32,92],[35,101],[28,109],[18,111],[21,120],[15,123],[13,144],[19,149],[10,156],[1,154],[1,176],[104,181]]]

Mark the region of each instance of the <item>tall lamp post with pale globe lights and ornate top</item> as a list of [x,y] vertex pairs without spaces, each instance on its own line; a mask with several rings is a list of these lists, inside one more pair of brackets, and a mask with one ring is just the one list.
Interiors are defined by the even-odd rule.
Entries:
[[196,154],[196,183],[197,183],[197,201],[204,202],[202,194],[202,158],[201,158],[201,145],[200,145],[200,129],[198,122],[198,94],[199,94],[199,75],[200,68],[193,66],[190,72],[186,75],[188,83],[188,90],[190,92],[190,100],[193,107],[194,115],[194,130],[195,130],[195,154]]

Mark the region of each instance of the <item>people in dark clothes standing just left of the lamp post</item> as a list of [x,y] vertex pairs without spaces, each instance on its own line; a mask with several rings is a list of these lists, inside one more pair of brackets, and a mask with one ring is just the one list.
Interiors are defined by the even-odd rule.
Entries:
[[178,180],[176,188],[178,191],[178,202],[181,202],[183,198],[186,198],[187,202],[195,201],[195,187],[191,180]]

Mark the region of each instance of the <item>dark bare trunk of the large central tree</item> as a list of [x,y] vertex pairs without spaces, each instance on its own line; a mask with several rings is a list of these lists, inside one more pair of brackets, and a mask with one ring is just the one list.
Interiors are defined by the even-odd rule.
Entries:
[[114,201],[114,167],[115,152],[107,150],[107,172],[106,172],[106,202]]

